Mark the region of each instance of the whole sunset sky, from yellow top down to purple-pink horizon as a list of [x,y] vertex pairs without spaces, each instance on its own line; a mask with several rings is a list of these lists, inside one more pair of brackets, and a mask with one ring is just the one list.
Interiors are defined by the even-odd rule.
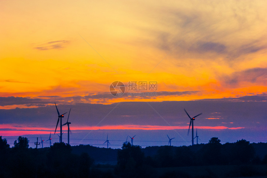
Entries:
[[[56,102],[62,113],[72,108],[73,139],[125,140],[138,130],[144,140],[156,133],[168,141],[169,132],[177,146],[188,145],[186,108],[203,112],[194,122],[203,143],[216,134],[267,142],[266,7],[265,0],[1,1],[0,135],[11,146],[19,135],[49,137]],[[114,81],[124,95],[110,93]],[[129,96],[133,81],[156,82],[156,96]]]

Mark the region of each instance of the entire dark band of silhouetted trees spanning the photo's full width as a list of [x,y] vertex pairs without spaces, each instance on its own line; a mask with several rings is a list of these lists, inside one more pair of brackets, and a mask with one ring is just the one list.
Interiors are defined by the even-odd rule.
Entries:
[[[29,140],[19,137],[10,148],[0,136],[0,177],[224,177],[212,171],[214,166],[230,165],[227,177],[266,176],[267,143],[238,140],[221,144],[211,138],[208,144],[193,146],[153,146],[141,148],[123,144],[122,149],[70,146],[55,143],[50,148],[29,148]],[[116,165],[97,165],[93,160],[112,161]],[[203,175],[177,171],[179,167],[205,168]],[[264,166],[265,171],[254,169]],[[179,174],[179,176],[178,176]],[[202,172],[201,172],[202,174]]]

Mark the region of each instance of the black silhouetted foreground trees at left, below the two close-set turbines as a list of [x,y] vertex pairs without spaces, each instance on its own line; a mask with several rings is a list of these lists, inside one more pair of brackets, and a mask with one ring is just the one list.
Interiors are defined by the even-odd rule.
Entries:
[[19,137],[9,148],[0,136],[0,177],[86,177],[92,159],[87,153],[71,153],[71,146],[55,143],[48,149],[29,148],[29,140]]

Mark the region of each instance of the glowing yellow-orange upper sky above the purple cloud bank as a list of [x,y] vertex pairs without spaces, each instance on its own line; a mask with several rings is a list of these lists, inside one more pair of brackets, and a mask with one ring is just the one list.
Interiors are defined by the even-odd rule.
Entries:
[[2,1],[0,96],[109,94],[117,80],[192,92],[83,102],[261,94],[267,91],[266,3]]

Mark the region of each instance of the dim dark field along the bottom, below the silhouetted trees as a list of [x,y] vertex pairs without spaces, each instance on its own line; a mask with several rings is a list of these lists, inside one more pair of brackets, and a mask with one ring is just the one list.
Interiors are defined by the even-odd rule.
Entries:
[[[111,165],[98,165],[91,169],[91,175],[96,177],[116,177],[116,168]],[[125,177],[154,178],[226,178],[226,177],[267,177],[267,165],[220,165],[220,166],[190,166],[190,167],[147,167],[143,174]]]

